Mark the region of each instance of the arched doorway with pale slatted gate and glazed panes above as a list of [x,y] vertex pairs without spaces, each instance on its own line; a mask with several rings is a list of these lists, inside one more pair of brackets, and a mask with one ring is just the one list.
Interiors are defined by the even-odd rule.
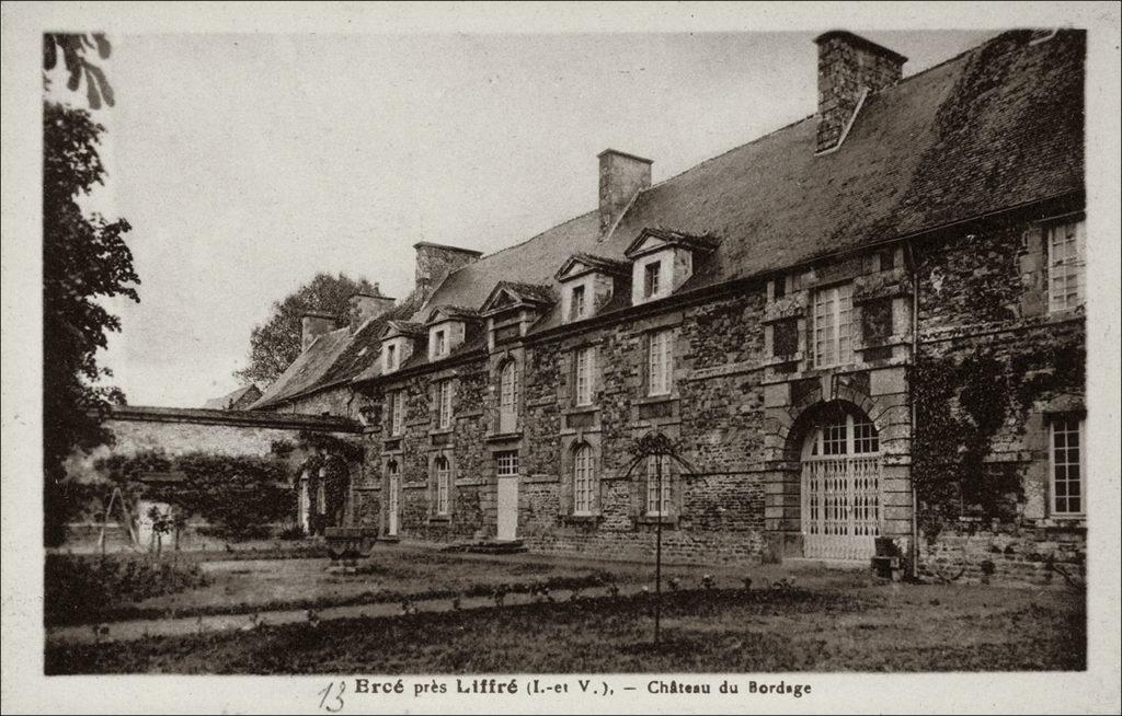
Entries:
[[802,444],[806,557],[867,560],[881,533],[881,445],[876,426],[843,401],[820,407]]

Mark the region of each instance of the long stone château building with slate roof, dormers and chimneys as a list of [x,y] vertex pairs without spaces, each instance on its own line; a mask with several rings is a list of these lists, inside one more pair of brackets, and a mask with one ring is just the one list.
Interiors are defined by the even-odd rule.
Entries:
[[[908,78],[864,38],[816,43],[813,115],[660,184],[607,149],[587,214],[489,255],[419,243],[411,296],[304,319],[254,409],[361,421],[349,524],[1079,568],[1085,35],[1010,31]],[[654,431],[683,457],[661,490],[628,469]]]

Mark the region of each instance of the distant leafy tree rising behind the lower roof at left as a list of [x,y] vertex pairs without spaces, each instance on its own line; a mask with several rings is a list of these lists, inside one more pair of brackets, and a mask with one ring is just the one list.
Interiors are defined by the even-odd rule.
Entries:
[[272,383],[301,352],[301,316],[310,310],[343,316],[355,294],[374,294],[365,278],[352,280],[346,273],[316,273],[311,281],[273,304],[269,319],[249,336],[249,364],[234,372],[242,382]]

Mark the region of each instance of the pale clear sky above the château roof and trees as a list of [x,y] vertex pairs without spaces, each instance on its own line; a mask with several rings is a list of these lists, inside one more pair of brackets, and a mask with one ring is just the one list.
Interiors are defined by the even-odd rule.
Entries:
[[[853,29],[905,75],[996,34]],[[603,149],[657,183],[816,103],[813,32],[109,37],[90,206],[132,225],[140,303],[111,304],[100,359],[131,405],[237,388],[252,327],[319,271],[404,297],[417,241],[493,252],[595,208]]]

